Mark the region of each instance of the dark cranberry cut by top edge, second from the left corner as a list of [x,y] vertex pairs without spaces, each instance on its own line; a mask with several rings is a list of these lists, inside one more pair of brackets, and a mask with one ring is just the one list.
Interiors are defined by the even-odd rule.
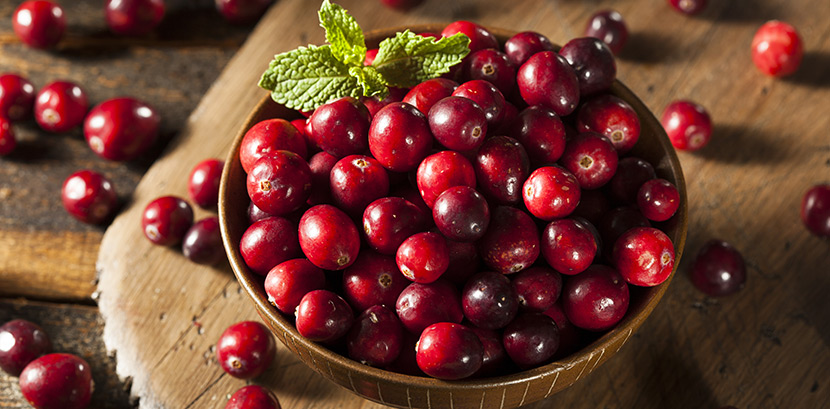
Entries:
[[107,26],[119,35],[143,36],[164,17],[164,0],[107,0]]

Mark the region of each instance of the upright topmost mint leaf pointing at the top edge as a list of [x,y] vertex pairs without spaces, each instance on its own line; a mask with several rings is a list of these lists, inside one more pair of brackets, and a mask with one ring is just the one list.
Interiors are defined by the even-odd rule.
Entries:
[[363,65],[366,57],[366,41],[363,30],[343,7],[323,0],[317,13],[320,26],[326,30],[326,41],[331,44],[334,57],[346,65]]

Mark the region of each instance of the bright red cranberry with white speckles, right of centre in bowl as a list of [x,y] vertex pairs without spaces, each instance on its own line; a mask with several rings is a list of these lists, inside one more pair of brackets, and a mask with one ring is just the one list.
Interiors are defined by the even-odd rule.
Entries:
[[579,204],[580,194],[576,177],[559,166],[544,166],[534,170],[522,188],[527,210],[547,221],[571,214]]

